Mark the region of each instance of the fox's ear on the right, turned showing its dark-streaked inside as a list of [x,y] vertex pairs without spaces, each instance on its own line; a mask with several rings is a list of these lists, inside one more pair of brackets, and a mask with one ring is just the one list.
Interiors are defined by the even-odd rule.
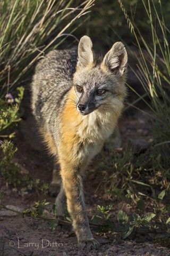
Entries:
[[122,42],[116,42],[103,59],[102,66],[106,67],[114,74],[123,75],[128,64],[128,54]]

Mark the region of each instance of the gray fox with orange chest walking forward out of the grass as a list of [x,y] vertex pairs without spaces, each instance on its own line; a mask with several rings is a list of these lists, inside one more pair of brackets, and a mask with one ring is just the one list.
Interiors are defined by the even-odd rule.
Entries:
[[53,50],[36,66],[32,110],[62,178],[57,214],[67,210],[82,249],[99,246],[84,205],[82,179],[91,159],[112,135],[126,96],[128,55],[122,42],[96,57],[90,37],[77,50]]

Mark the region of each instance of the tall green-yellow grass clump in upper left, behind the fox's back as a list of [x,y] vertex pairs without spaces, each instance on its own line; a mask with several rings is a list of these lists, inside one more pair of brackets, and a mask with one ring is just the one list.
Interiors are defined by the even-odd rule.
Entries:
[[[95,0],[11,0],[0,1],[0,95],[20,83],[36,60],[55,49],[74,28],[72,24],[89,12]],[[27,79],[25,78],[27,77]]]

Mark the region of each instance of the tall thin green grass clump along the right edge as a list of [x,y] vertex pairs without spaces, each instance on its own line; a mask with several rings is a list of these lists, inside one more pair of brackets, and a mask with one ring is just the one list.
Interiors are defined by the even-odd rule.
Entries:
[[170,152],[170,52],[168,41],[170,31],[168,20],[164,18],[163,1],[142,0],[148,20],[146,33],[141,33],[135,25],[134,19],[126,13],[122,1],[118,0],[118,2],[139,49],[139,55],[136,55],[138,70],[134,72],[145,89],[149,102],[141,95],[138,96],[148,105],[153,117],[154,142],[147,159],[154,169],[168,171]]

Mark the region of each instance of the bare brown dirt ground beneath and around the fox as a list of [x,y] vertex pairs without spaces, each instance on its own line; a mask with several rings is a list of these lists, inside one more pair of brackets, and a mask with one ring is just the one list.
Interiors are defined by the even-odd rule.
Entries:
[[[25,102],[28,106],[28,102]],[[18,147],[16,162],[28,170],[33,179],[50,183],[52,179],[53,162],[48,156],[37,134],[33,117],[29,108],[23,106],[24,121],[16,130],[14,143]],[[129,139],[134,143],[145,145],[151,140],[149,129],[150,117],[138,110],[130,110],[120,119],[122,142]],[[99,159],[99,158],[98,158]],[[89,175],[84,181],[84,193],[89,218],[96,213],[97,205],[113,204],[112,219],[116,220],[118,210],[123,210],[123,203],[117,199],[106,199],[104,190],[97,189],[103,177],[93,175],[94,165],[90,166]],[[97,172],[97,170],[96,170]],[[43,198],[35,192],[21,193],[7,186],[0,178],[1,191],[4,194],[4,203],[17,206],[18,210],[28,209],[35,201]],[[48,195],[46,200],[52,204],[55,198]],[[14,215],[13,215],[14,214]],[[170,249],[151,242],[149,236],[139,236],[134,239],[115,238],[113,233],[95,233],[94,237],[100,242],[98,250],[81,251],[77,246],[77,238],[68,226],[58,226],[51,231],[47,221],[22,218],[12,212],[0,211],[0,256],[168,256]]]

